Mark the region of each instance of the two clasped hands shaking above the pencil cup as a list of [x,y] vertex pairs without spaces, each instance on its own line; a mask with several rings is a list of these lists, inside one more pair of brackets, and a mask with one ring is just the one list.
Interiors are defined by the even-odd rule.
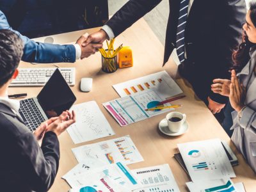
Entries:
[[100,29],[90,35],[88,35],[88,33],[84,33],[84,35],[80,36],[76,44],[81,47],[81,59],[83,60],[84,58],[88,58],[90,55],[99,51],[99,49],[103,47],[102,43],[107,38],[108,35],[103,29]]

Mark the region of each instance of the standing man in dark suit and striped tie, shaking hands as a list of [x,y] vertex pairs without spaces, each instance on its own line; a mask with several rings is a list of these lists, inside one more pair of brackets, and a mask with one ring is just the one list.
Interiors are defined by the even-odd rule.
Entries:
[[[161,0],[130,0],[89,42],[118,36]],[[164,63],[176,48],[179,73],[192,84],[196,95],[212,113],[219,113],[227,99],[211,92],[212,79],[227,77],[232,49],[241,35],[246,15],[244,0],[170,0]]]

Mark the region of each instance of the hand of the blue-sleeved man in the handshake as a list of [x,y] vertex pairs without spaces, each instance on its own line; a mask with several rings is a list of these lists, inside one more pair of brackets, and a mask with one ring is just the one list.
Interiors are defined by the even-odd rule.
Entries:
[[84,35],[80,36],[77,40],[76,44],[78,44],[81,48],[81,59],[88,58],[90,55],[95,54],[95,52],[99,51],[100,48],[103,47],[103,44],[87,44],[86,46],[82,46],[84,42],[88,39],[88,33],[84,33]]

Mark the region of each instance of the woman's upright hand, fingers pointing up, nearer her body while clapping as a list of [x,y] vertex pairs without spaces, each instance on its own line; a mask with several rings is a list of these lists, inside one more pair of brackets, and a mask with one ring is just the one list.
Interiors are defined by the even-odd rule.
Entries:
[[237,112],[241,111],[241,109],[244,108],[245,96],[245,88],[243,84],[239,83],[235,70],[232,70],[229,100],[232,108],[234,108]]

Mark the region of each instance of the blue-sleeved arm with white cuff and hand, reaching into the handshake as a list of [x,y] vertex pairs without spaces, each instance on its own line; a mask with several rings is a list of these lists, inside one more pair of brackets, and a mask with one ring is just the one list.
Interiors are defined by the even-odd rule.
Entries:
[[98,49],[102,48],[102,44],[90,44],[86,47],[81,46],[81,43],[86,40],[88,34],[82,35],[74,45],[56,45],[35,42],[26,36],[23,36],[19,31],[13,30],[4,15],[0,10],[0,29],[10,29],[15,32],[24,42],[24,54],[22,61],[35,63],[74,63],[79,58],[87,58],[91,54],[95,54]]

